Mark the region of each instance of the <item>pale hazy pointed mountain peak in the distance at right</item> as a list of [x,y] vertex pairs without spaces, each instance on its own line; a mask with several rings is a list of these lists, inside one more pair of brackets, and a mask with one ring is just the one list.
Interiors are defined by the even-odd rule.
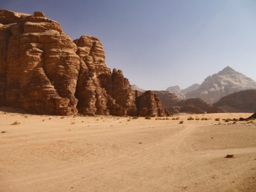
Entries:
[[231,67],[225,67],[219,73],[208,76],[199,88],[186,93],[185,96],[186,99],[201,98],[213,104],[228,94],[248,89],[256,89],[256,81]]

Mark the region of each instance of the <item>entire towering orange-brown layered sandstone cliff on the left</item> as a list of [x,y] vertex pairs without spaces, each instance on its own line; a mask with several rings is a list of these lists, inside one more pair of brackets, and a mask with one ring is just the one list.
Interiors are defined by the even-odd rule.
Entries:
[[0,10],[0,107],[50,115],[164,116],[156,94],[110,71],[100,40],[70,39],[42,12]]

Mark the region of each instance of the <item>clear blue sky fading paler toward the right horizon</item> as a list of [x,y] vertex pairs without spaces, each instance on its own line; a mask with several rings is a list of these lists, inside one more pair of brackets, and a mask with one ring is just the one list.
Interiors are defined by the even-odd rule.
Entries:
[[103,43],[106,64],[146,90],[186,88],[226,66],[256,80],[255,0],[8,0],[43,11],[71,39]]

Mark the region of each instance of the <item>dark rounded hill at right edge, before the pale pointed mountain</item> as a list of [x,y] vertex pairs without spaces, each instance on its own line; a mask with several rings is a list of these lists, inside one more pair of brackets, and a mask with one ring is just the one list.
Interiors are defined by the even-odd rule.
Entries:
[[254,113],[255,101],[256,90],[245,90],[228,94],[213,105],[229,113]]

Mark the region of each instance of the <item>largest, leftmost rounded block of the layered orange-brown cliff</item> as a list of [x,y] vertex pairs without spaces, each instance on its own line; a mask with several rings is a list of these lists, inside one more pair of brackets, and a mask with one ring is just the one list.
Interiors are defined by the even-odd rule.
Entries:
[[[3,19],[9,15],[13,20]],[[11,11],[1,11],[1,20],[4,105],[39,114],[76,113],[77,46],[59,23]]]

